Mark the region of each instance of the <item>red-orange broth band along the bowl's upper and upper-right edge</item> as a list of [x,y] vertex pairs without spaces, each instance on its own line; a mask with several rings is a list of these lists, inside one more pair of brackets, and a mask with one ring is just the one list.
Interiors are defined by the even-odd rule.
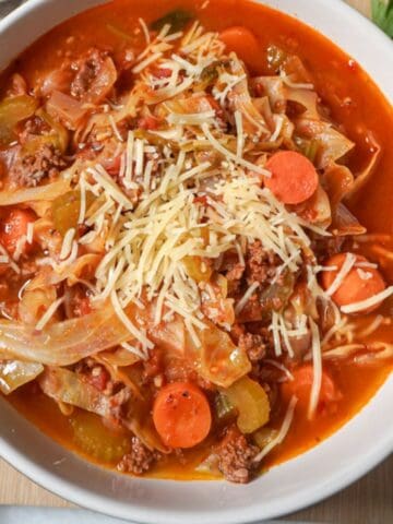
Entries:
[[[59,59],[78,56],[92,45],[115,50],[122,48],[124,43],[119,41],[119,36],[114,35],[108,25],[115,24],[127,33],[139,27],[136,21],[140,16],[151,22],[171,9],[182,7],[195,13],[207,29],[221,31],[238,25],[241,9],[242,24],[254,33],[261,45],[259,72],[269,71],[266,49],[270,45],[297,53],[303,60],[317,92],[327,104],[333,118],[356,142],[356,154],[350,154],[350,168],[361,169],[367,164],[370,145],[365,131],[372,130],[382,146],[382,159],[372,181],[362,189],[353,209],[370,231],[392,233],[393,225],[385,218],[386,211],[393,205],[393,176],[386,177],[393,169],[393,151],[389,147],[393,140],[393,109],[370,76],[332,41],[295,17],[248,0],[214,0],[204,5],[202,0],[162,0],[158,7],[153,0],[146,0],[143,5],[134,0],[112,0],[70,19],[43,36],[17,58],[13,67],[23,71],[29,84],[34,85],[43,71],[50,71]],[[124,15],[128,11],[130,14]],[[352,103],[348,104],[348,100]],[[367,199],[364,199],[366,194]]]

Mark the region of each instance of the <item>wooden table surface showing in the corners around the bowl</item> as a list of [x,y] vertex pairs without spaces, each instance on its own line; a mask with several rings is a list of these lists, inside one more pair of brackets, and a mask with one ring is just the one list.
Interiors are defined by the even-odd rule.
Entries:
[[[348,3],[369,15],[370,0],[348,0]],[[72,507],[66,500],[38,487],[1,460],[0,504]],[[393,523],[393,455],[349,488],[324,502],[290,515],[289,520],[334,524]]]

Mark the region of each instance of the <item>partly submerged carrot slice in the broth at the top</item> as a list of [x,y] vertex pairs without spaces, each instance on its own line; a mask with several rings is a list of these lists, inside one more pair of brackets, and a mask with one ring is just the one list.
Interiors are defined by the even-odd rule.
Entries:
[[219,33],[228,51],[234,51],[247,66],[258,70],[261,67],[261,47],[251,31],[246,27],[228,27]]

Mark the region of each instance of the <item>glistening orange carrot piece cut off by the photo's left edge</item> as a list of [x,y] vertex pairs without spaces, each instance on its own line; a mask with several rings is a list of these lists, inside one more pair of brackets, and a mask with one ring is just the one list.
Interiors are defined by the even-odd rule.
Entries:
[[[0,243],[12,255],[16,250],[16,246],[21,237],[26,235],[27,225],[36,221],[36,215],[28,210],[11,210],[1,221]],[[32,249],[32,245],[25,242],[23,252],[26,253]]]

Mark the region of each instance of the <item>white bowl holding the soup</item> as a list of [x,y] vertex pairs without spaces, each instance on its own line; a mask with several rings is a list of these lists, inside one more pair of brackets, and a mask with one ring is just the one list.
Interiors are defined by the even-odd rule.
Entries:
[[[99,3],[104,0],[31,0],[0,23],[0,68],[53,25]],[[369,72],[388,98],[393,98],[391,40],[344,2],[263,3],[325,34]],[[56,444],[2,400],[0,454],[50,491],[112,516],[150,524],[240,524],[318,502],[388,456],[393,451],[392,398],[391,376],[372,401],[334,436],[247,486],[150,480],[110,473]]]

